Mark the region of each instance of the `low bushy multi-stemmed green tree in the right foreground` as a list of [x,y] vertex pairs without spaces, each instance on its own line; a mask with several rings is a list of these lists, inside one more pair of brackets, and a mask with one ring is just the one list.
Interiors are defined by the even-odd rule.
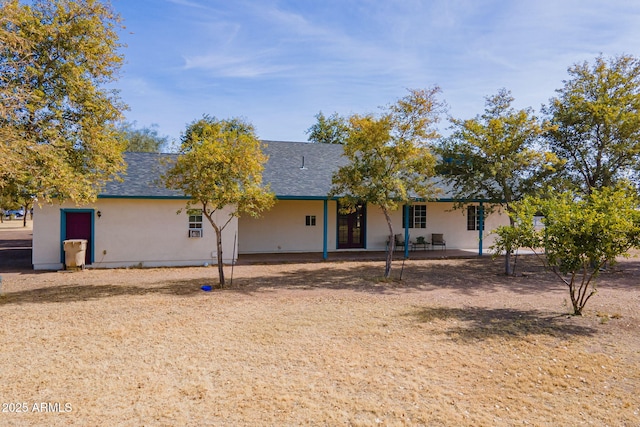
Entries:
[[[640,243],[640,211],[629,186],[572,191],[541,199],[526,197],[514,208],[515,227],[500,227],[494,250],[528,247],[569,289],[573,314],[581,315],[597,293],[596,278],[607,262],[628,256]],[[543,228],[533,216],[542,215]]]

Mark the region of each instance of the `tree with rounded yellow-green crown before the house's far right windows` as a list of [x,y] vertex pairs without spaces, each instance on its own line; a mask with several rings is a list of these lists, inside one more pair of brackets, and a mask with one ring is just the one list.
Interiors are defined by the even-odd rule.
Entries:
[[[559,165],[541,149],[546,127],[531,109],[516,110],[506,89],[486,98],[485,111],[470,120],[452,119],[453,133],[438,147],[438,172],[461,200],[486,199],[486,213],[501,207],[514,224],[512,204],[541,188]],[[506,247],[505,273],[511,274]]]

